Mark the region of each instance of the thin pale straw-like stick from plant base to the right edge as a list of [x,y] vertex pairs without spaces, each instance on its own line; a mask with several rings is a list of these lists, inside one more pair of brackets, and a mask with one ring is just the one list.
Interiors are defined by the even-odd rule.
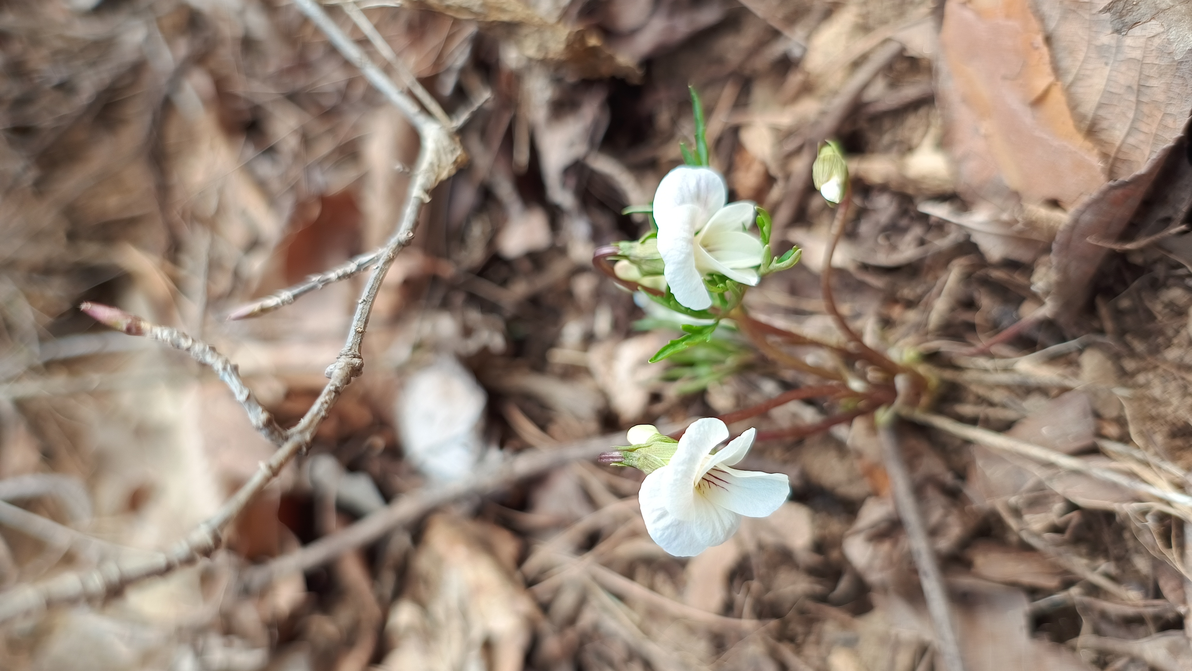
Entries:
[[1068,456],[1066,454],[1060,454],[1055,450],[1049,450],[1044,447],[1028,443],[1025,441],[1019,441],[1018,438],[1011,438],[1010,436],[1004,436],[994,431],[988,431],[986,429],[980,429],[977,426],[970,426],[955,419],[943,417],[939,414],[932,414],[927,412],[918,412],[912,410],[901,410],[902,417],[915,421],[918,424],[926,424],[927,426],[933,426],[942,431],[946,431],[954,436],[964,438],[973,443],[985,445],[987,448],[993,448],[995,450],[1001,450],[1016,455],[1022,455],[1025,457],[1033,458],[1035,461],[1041,461],[1043,463],[1050,463],[1053,466],[1058,466],[1060,468],[1066,468],[1068,470],[1075,470],[1076,473],[1084,473],[1097,478],[1098,480],[1104,480],[1106,482],[1112,482],[1119,485],[1128,490],[1132,490],[1140,494],[1153,497],[1159,500],[1163,500],[1177,506],[1181,506],[1179,512],[1185,519],[1192,519],[1192,513],[1188,512],[1188,506],[1192,506],[1192,497],[1182,492],[1172,492],[1167,490],[1160,490],[1159,487],[1142,482],[1141,480],[1135,480],[1128,475],[1122,475],[1116,470],[1110,470],[1107,468],[1098,468],[1095,466],[1089,466],[1084,461]]

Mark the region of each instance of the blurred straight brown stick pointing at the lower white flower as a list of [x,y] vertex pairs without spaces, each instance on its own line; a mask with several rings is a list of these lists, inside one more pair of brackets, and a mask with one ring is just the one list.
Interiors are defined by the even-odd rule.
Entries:
[[302,549],[254,567],[244,574],[243,584],[250,592],[268,586],[275,578],[288,573],[304,572],[331,561],[340,554],[368,544],[389,531],[412,524],[436,507],[464,497],[482,497],[508,487],[519,480],[530,478],[564,463],[596,458],[625,439],[625,433],[609,433],[589,438],[550,451],[527,451],[496,469],[484,469],[462,480],[427,488],[395,499],[387,506],[373,512],[350,527],[323,536]]

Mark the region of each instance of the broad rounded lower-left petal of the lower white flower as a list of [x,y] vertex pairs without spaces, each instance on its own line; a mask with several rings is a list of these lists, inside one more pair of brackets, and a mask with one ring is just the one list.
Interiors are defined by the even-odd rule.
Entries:
[[[694,497],[688,519],[677,517],[673,513],[673,501],[666,493],[668,469],[670,467],[664,466],[646,475],[638,494],[646,531],[659,547],[675,556],[694,556],[710,546],[719,546],[737,533],[740,515],[719,507],[703,497]],[[688,490],[691,491],[691,487],[688,486]]]

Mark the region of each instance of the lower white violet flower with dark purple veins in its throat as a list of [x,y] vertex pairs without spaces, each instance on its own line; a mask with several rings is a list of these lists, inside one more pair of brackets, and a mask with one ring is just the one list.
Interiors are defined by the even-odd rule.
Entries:
[[[756,432],[750,429],[713,453],[728,438],[728,426],[715,418],[699,419],[679,438],[670,462],[646,475],[638,494],[641,517],[664,550],[697,555],[732,537],[741,516],[766,517],[787,500],[786,475],[730,468],[749,453]],[[635,438],[646,439],[629,436],[631,442]]]

